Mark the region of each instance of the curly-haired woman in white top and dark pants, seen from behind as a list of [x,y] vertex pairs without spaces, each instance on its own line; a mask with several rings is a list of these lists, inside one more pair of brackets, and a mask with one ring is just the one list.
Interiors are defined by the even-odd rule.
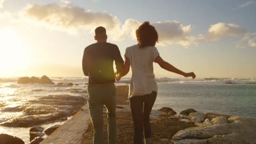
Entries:
[[[132,78],[130,85],[130,106],[134,124],[133,143],[143,143],[143,131],[145,143],[151,144],[151,128],[149,115],[155,103],[158,86],[155,81],[153,71],[153,62],[158,63],[161,68],[185,77],[196,77],[194,73],[184,73],[165,62],[155,47],[158,41],[158,33],[155,28],[144,22],[136,30],[138,44],[127,47],[125,51],[125,68],[117,77],[126,75],[130,66],[132,69]],[[118,79],[118,78],[117,78]]]

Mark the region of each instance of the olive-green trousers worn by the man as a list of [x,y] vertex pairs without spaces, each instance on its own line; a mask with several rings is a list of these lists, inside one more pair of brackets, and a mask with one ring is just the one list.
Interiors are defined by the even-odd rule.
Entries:
[[94,127],[94,144],[104,143],[103,133],[103,106],[108,114],[108,143],[115,144],[117,141],[117,123],[115,106],[117,91],[115,85],[88,87],[88,108],[91,122]]

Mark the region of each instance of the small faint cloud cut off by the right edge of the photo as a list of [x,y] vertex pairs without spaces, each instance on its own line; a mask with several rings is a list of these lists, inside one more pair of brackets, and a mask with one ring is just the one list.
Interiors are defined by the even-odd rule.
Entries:
[[256,33],[246,33],[236,46],[238,48],[256,47]]

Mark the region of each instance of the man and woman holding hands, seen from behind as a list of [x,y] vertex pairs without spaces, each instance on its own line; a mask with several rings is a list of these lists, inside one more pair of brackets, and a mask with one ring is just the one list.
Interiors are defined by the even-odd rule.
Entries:
[[[149,115],[155,103],[158,86],[155,81],[153,62],[161,68],[184,77],[196,77],[192,73],[173,67],[159,55],[155,44],[158,42],[158,32],[149,22],[142,23],[136,30],[138,44],[127,47],[125,62],[117,45],[107,43],[104,27],[95,29],[97,43],[87,46],[83,55],[84,75],[88,81],[88,107],[91,122],[94,127],[94,144],[104,143],[103,106],[108,115],[108,143],[117,141],[117,124],[115,117],[116,89],[115,79],[120,80],[132,70],[129,102],[134,125],[134,144],[152,144]],[[117,72],[114,73],[115,61]]]

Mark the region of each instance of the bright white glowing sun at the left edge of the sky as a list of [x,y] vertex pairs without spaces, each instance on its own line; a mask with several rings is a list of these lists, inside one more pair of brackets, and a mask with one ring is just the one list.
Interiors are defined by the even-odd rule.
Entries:
[[0,29],[0,77],[18,75],[27,62],[26,46],[15,30]]

